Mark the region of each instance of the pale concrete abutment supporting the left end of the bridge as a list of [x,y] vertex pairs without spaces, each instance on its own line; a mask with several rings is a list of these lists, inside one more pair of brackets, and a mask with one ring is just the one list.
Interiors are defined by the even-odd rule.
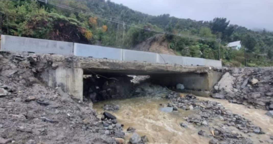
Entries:
[[80,68],[50,69],[41,75],[49,87],[61,87],[61,89],[73,95],[75,98],[83,99],[83,70]]

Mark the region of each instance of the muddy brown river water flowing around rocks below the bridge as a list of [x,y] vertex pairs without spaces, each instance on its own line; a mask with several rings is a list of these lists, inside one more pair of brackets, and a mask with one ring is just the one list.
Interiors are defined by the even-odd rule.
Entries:
[[[248,109],[244,105],[232,104],[226,100],[218,100],[211,98],[198,97],[204,100],[213,100],[220,102],[226,109],[230,109],[235,114],[244,115],[245,118],[253,121],[253,123],[261,127],[266,134],[252,135],[244,134],[237,128],[231,129],[235,133],[242,134],[244,137],[249,137],[254,143],[259,143],[259,140],[270,139],[269,135],[273,134],[273,120],[265,115],[266,111],[257,109]],[[117,104],[120,110],[111,112],[117,117],[118,123],[124,124],[123,131],[126,132],[128,127],[134,127],[136,133],[140,136],[146,135],[149,143],[209,143],[210,138],[199,136],[198,131],[205,130],[209,133],[208,127],[194,127],[188,124],[188,128],[183,128],[179,124],[185,122],[185,117],[194,114],[191,110],[173,111],[171,113],[162,112],[159,110],[160,104],[167,104],[167,99],[156,99],[149,97],[116,99],[102,101],[94,104],[94,109],[98,113],[103,112],[104,104]],[[221,123],[215,120],[212,125]],[[125,140],[129,142],[132,133],[125,133]]]

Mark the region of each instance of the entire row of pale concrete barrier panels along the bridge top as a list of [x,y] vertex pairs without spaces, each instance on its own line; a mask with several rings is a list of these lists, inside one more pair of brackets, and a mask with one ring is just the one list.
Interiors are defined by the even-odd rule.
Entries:
[[[73,46],[74,45],[74,46]],[[35,53],[53,53],[75,55],[81,57],[107,58],[113,60],[137,61],[148,63],[169,63],[188,66],[222,67],[219,60],[182,57],[153,52],[133,51],[128,49],[109,48],[104,46],[85,45],[80,43],[61,42],[54,40],[33,39],[1,35],[1,51],[26,51]]]

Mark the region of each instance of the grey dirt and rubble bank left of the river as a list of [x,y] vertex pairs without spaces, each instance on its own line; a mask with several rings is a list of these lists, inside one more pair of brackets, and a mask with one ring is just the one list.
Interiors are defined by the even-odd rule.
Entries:
[[92,104],[35,78],[46,55],[2,52],[0,63],[0,143],[115,143]]

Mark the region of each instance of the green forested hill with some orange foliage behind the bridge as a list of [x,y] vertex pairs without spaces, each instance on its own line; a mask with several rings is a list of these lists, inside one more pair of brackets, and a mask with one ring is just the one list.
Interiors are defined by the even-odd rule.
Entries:
[[[135,27],[123,25],[123,22]],[[218,59],[215,39],[220,38],[220,56],[224,64],[231,66],[244,64],[244,50],[234,51],[225,46],[228,42],[241,40],[248,48],[248,66],[273,64],[272,32],[251,31],[231,25],[225,18],[196,21],[170,17],[169,14],[151,16],[104,0],[48,0],[48,4],[36,0],[1,0],[0,29],[2,34],[127,49],[158,34],[153,31],[165,31],[180,36],[203,37],[202,40],[165,34],[162,39],[177,55],[210,59]]]

